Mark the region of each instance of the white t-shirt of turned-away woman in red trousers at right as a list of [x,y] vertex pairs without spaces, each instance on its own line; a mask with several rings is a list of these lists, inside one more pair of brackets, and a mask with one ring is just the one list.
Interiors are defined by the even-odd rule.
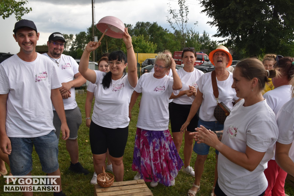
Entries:
[[266,99],[266,103],[272,108],[275,115],[277,115],[284,103],[291,99],[291,87],[292,85],[275,87],[273,90],[268,91],[263,95]]

